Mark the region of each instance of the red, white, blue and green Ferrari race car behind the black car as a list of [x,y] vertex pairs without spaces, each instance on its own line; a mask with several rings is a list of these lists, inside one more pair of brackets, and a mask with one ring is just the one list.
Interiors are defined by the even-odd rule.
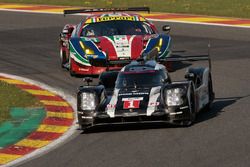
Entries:
[[[170,27],[156,27],[138,14],[123,11],[149,11],[147,7],[65,10],[65,14],[93,13],[79,24],[67,24],[60,33],[61,66],[71,75],[98,75],[106,70],[121,69],[143,53],[157,48],[159,57],[171,53]],[[102,14],[100,14],[100,12]]]

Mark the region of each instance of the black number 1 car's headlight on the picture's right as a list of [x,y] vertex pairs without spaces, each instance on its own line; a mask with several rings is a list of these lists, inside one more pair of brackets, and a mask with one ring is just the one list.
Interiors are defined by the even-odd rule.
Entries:
[[183,89],[174,88],[166,91],[166,104],[168,106],[179,106],[183,104]]

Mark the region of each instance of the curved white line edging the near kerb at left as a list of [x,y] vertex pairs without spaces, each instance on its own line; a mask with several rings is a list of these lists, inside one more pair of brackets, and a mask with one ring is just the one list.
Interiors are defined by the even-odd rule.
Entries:
[[[34,81],[28,78],[24,78],[24,77],[20,77],[20,76],[16,76],[16,75],[10,75],[10,74],[5,74],[5,73],[0,73],[0,76],[3,77],[7,77],[7,78],[11,78],[11,79],[17,79],[17,80],[21,80],[24,82],[28,82],[34,85],[37,85],[43,89],[46,89],[48,91],[51,91],[59,96],[61,96],[63,99],[65,99],[73,108],[74,111],[76,111],[76,98],[72,97],[70,95],[65,94],[63,91],[52,88],[46,84],[43,84],[41,82],[38,81]],[[60,144],[62,144],[64,141],[66,141],[67,139],[69,139],[70,137],[73,136],[73,134],[76,132],[77,129],[77,125],[76,125],[76,112],[75,112],[75,116],[74,116],[74,121],[71,125],[71,127],[69,128],[69,130],[64,133],[61,137],[59,137],[58,139],[52,141],[51,143],[49,143],[47,146],[44,146],[42,148],[38,148],[35,151],[33,151],[30,154],[24,155],[23,157],[16,159],[14,161],[11,161],[5,165],[3,165],[4,167],[9,167],[9,166],[13,166],[13,165],[17,165],[19,163],[23,163],[27,160],[30,160],[32,158],[36,158],[38,156],[44,155],[45,153],[49,152],[50,150],[58,147]]]

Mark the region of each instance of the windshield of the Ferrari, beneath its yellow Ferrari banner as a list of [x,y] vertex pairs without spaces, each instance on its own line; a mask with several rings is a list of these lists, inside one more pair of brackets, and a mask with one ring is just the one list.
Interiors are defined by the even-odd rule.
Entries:
[[113,35],[150,35],[155,34],[149,24],[142,21],[116,20],[86,25],[82,29],[83,37]]

